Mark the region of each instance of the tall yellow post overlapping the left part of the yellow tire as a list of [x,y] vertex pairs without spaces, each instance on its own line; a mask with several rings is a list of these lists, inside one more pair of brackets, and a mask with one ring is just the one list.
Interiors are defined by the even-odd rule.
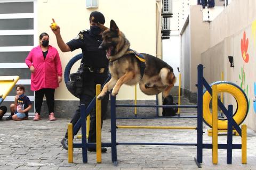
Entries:
[[218,164],[218,92],[212,86],[212,163]]

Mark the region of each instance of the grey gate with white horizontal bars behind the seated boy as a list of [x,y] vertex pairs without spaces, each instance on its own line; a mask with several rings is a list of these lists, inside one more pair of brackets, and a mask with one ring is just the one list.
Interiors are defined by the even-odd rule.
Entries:
[[[19,75],[17,84],[25,86],[26,95],[32,101],[30,116],[34,115],[34,91],[30,90],[30,71],[25,58],[38,43],[36,3],[37,0],[0,1],[0,76]],[[10,106],[15,95],[13,88],[3,105]]]

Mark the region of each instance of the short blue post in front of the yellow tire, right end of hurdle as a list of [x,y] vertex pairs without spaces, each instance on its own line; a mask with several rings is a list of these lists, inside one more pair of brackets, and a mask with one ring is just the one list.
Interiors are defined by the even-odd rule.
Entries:
[[227,164],[232,164],[233,105],[228,105]]

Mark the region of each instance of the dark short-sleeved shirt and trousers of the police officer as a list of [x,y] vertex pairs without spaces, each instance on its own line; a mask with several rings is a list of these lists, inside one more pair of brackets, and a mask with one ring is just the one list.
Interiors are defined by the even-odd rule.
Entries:
[[[95,36],[90,30],[81,31],[79,35],[73,40],[69,41],[67,45],[71,51],[81,48],[83,57],[81,63],[83,63],[84,73],[83,73],[83,92],[79,97],[80,104],[85,104],[87,107],[91,100],[95,97],[95,86],[96,84],[103,83],[108,78],[108,63],[105,50],[99,49],[102,38],[101,35]],[[106,95],[105,98],[101,101],[102,117],[105,117],[107,111],[109,95]],[[73,116],[70,123],[73,125],[79,120],[80,106],[76,110],[75,115]],[[90,113],[91,123],[90,123],[90,132],[88,142],[96,142],[96,118],[95,118],[95,108]],[[102,122],[101,122],[102,124]],[[74,132],[73,135],[76,135],[77,132]],[[68,137],[66,133],[66,138]]]

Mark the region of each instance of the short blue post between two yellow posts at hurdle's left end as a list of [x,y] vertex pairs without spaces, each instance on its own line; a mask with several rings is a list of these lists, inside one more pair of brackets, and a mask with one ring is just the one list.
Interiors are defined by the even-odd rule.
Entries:
[[87,163],[87,142],[86,142],[86,117],[85,105],[81,105],[81,130],[82,130],[82,155],[83,163]]

